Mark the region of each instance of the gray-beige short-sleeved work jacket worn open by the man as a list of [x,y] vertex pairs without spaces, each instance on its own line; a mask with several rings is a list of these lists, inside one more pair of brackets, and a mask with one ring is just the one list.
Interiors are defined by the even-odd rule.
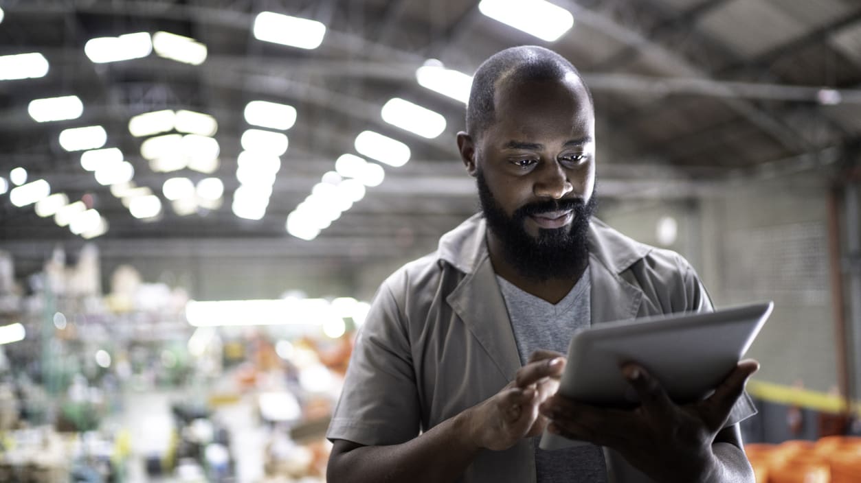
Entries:
[[[473,407],[513,380],[521,363],[475,215],[381,285],[357,338],[326,437],[363,445],[404,443]],[[684,258],[593,219],[588,235],[592,323],[710,311]],[[755,413],[746,397],[731,423]],[[534,482],[534,449],[522,440],[482,451],[461,481]],[[605,450],[611,480],[647,481]]]

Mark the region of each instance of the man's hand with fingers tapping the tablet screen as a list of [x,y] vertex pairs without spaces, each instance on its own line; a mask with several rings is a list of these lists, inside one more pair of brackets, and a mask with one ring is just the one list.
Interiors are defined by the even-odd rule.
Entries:
[[521,438],[544,431],[547,419],[538,413],[538,407],[555,394],[565,362],[559,352],[535,352],[529,364],[517,371],[514,381],[462,413],[475,446],[509,449]]

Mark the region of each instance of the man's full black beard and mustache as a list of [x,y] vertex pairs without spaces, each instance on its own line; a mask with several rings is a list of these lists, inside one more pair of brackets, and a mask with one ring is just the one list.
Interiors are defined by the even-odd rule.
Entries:
[[[586,234],[589,220],[598,206],[594,193],[587,203],[582,199],[536,201],[517,208],[509,217],[493,197],[484,173],[479,170],[476,177],[481,212],[488,229],[499,239],[502,256],[508,264],[523,277],[541,282],[579,276],[588,262]],[[573,211],[570,225],[538,229],[537,236],[526,232],[526,217],[561,210]]]

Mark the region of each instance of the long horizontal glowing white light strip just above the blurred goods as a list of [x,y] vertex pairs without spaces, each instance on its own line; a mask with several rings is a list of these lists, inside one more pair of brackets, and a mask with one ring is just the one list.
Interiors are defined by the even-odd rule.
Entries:
[[322,298],[282,300],[189,301],[185,317],[194,327],[267,326],[286,324],[322,325],[338,317],[331,303]]

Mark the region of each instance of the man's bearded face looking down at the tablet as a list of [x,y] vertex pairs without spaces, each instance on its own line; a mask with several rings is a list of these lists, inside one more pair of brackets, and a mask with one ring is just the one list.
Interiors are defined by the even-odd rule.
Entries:
[[479,196],[506,260],[532,278],[582,267],[595,207],[594,114],[576,79],[498,86],[476,140]]

